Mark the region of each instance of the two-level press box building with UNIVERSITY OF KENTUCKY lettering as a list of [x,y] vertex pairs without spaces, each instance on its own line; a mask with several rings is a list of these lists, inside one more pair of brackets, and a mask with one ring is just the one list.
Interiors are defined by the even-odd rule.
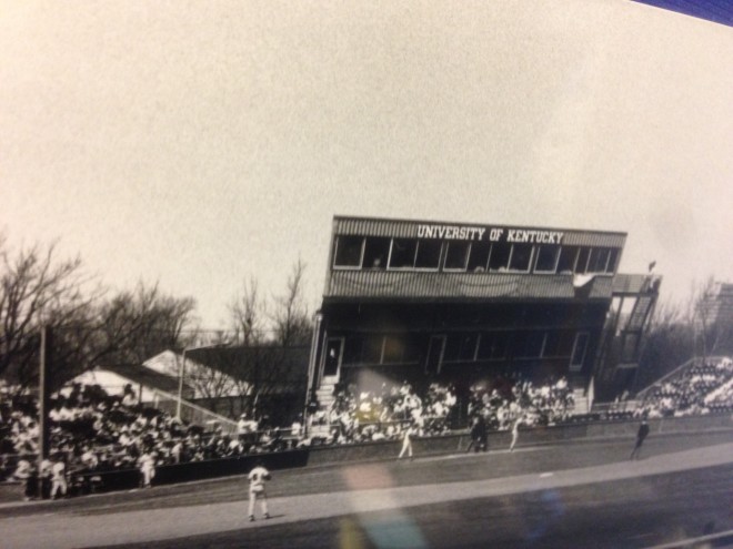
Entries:
[[[335,216],[309,365],[338,384],[566,376],[588,400],[633,380],[660,277],[617,273],[626,234]],[[372,387],[373,388],[373,387]]]

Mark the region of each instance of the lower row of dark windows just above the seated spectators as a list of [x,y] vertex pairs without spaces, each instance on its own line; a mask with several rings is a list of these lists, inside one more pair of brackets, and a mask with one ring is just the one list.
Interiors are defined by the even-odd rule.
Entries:
[[[504,360],[511,356],[568,358],[571,366],[581,366],[588,337],[586,332],[522,331],[433,335],[429,340],[418,335],[349,336],[332,340],[339,347],[343,345],[344,365],[414,364],[426,350],[426,362],[438,364]],[[331,357],[339,359],[333,353]]]

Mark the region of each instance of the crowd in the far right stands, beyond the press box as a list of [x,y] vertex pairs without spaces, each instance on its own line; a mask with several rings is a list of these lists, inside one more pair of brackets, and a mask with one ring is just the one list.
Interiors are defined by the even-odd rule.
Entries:
[[733,360],[693,364],[652,387],[635,414],[682,417],[733,409]]

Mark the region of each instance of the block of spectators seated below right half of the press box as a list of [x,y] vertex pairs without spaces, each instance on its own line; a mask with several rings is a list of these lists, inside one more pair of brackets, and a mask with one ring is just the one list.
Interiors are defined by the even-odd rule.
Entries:
[[469,417],[481,417],[489,430],[508,430],[519,420],[523,427],[568,420],[574,409],[565,377],[533,384],[519,376],[499,376],[491,385],[471,387]]

